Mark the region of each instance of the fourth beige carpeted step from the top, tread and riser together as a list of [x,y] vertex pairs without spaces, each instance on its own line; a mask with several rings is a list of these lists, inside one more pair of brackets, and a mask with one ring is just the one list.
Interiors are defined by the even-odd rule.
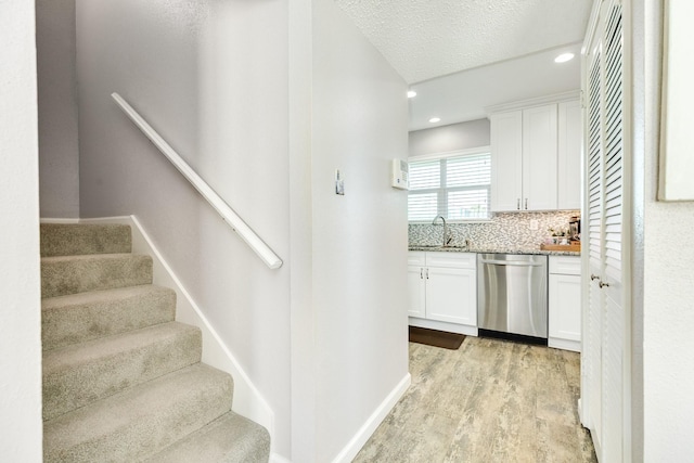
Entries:
[[200,362],[200,329],[178,322],[43,353],[43,420]]

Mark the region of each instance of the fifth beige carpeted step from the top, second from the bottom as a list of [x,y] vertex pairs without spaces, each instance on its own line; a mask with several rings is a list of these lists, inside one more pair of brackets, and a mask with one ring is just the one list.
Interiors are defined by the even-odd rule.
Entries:
[[231,376],[202,363],[46,422],[43,461],[150,458],[231,410]]

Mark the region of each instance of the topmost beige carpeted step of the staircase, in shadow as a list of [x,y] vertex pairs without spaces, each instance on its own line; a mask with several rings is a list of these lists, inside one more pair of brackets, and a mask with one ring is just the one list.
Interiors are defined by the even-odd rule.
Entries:
[[130,253],[129,226],[41,223],[41,257]]

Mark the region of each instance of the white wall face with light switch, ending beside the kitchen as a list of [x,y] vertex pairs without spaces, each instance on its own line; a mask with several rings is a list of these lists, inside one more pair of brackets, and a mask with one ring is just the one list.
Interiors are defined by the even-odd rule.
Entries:
[[312,21],[310,461],[327,462],[408,375],[407,192],[389,185],[408,113],[406,82],[332,0],[313,1]]

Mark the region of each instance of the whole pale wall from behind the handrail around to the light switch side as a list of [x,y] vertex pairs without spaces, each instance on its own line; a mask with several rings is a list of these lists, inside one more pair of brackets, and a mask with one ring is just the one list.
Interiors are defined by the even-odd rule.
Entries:
[[[404,81],[330,0],[78,0],[77,49],[81,216],[139,218],[275,412],[275,453],[348,454],[408,377],[407,194],[389,187],[390,159],[408,150]],[[113,91],[258,231],[280,270]]]

